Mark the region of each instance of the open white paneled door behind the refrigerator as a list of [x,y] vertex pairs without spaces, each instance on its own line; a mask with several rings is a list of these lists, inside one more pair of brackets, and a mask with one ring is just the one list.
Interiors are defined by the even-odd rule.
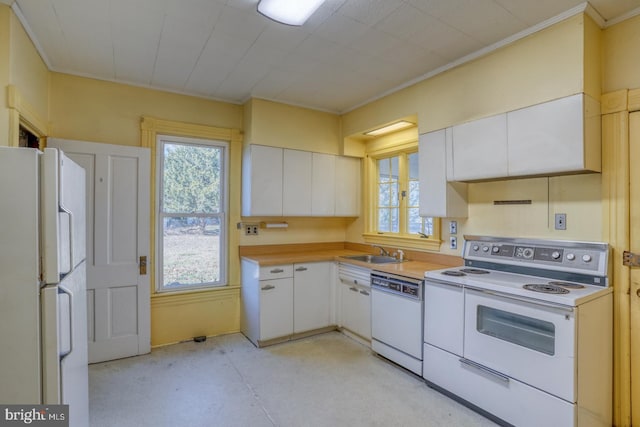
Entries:
[[87,172],[89,363],[148,353],[149,149],[53,138],[47,145]]

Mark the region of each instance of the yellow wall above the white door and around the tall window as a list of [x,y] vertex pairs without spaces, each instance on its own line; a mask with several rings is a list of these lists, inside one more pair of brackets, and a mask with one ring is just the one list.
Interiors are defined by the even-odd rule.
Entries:
[[[139,146],[142,116],[238,130],[243,122],[240,105],[51,73],[51,136]],[[240,192],[240,146],[238,143],[231,149],[232,195]],[[231,200],[238,205],[230,207],[234,225],[239,220],[239,197]],[[233,226],[231,232],[236,232]],[[237,238],[231,240],[234,243],[230,249],[230,265],[234,270],[229,273],[231,288],[155,294],[151,284],[152,346],[239,330]],[[149,267],[153,268],[153,263]]]

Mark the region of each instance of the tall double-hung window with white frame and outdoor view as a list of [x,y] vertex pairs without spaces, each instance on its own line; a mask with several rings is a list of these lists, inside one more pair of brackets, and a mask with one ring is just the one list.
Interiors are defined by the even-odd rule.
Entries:
[[159,136],[158,291],[226,284],[228,144]]

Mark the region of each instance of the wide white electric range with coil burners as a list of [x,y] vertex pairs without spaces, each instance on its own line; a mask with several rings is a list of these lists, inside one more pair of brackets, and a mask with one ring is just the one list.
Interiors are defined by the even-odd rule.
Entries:
[[501,424],[610,426],[604,243],[465,236],[425,273],[423,377]]

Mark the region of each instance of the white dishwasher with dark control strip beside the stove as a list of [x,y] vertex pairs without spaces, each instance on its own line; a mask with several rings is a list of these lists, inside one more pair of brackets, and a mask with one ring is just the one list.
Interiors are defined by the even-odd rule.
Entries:
[[371,273],[371,348],[422,375],[422,280]]

